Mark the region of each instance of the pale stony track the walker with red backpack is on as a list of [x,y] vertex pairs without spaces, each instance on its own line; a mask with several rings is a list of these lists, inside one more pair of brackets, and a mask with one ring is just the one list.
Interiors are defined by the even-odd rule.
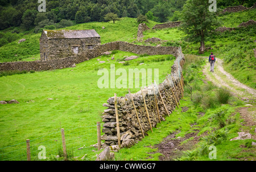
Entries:
[[[207,58],[208,63],[208,58]],[[216,58],[214,65],[214,72],[210,72],[210,65],[206,65],[203,69],[203,73],[207,80],[218,85],[218,87],[226,87],[237,97],[241,97],[243,100],[256,99],[256,90],[240,83],[232,75],[226,72],[222,66],[222,59]]]

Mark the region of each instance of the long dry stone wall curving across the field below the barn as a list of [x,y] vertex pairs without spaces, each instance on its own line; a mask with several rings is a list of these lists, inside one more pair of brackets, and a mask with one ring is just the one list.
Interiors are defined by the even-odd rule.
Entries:
[[9,71],[9,70],[27,70],[27,71],[46,71],[46,70],[56,70],[61,68],[72,67],[73,64],[81,63],[88,61],[89,59],[98,57],[102,55],[105,51],[112,50],[121,50],[121,51],[130,51],[136,54],[148,54],[148,55],[157,55],[157,54],[173,54],[176,55],[177,47],[165,46],[165,47],[156,47],[156,46],[143,46],[130,44],[128,42],[109,42],[107,44],[98,45],[94,49],[88,49],[77,55],[72,55],[67,58],[60,59],[50,59],[46,61],[32,61],[32,62],[7,62],[0,63],[0,71]]

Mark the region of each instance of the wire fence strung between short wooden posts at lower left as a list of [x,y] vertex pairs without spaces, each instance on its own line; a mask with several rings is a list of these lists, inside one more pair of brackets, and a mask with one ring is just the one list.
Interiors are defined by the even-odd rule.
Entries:
[[[100,125],[102,127],[103,123]],[[92,149],[93,147],[91,145],[97,143],[97,124],[67,128],[64,131],[67,152],[72,152],[73,157],[83,156],[84,151],[81,150],[86,148]],[[24,138],[24,140],[26,139],[30,138]],[[45,151],[45,157],[48,159],[51,158],[51,156],[56,157],[57,155],[61,156],[61,154],[63,154],[61,131],[52,132],[51,134],[32,139],[29,143],[31,161],[45,160],[44,156],[42,156],[43,151]],[[0,148],[1,161],[27,161],[27,154],[27,141]]]

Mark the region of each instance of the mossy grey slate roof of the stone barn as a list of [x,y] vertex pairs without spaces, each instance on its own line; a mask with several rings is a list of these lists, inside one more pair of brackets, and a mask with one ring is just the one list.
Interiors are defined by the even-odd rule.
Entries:
[[48,39],[101,37],[94,29],[90,30],[43,30]]

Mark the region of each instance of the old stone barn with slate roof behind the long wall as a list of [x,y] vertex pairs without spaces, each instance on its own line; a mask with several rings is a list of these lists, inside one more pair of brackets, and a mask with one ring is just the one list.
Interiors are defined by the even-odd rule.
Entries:
[[65,58],[101,45],[101,37],[90,30],[43,30],[40,37],[40,59]]

